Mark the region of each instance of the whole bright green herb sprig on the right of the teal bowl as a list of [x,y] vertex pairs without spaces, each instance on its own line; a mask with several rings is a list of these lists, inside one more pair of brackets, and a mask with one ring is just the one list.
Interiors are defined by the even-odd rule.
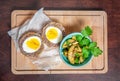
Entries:
[[102,50],[97,46],[97,42],[91,42],[88,37],[92,35],[92,29],[89,26],[86,26],[81,31],[81,35],[76,36],[80,47],[82,47],[82,53],[84,58],[88,58],[89,54],[93,54],[95,57],[98,57],[102,54]]

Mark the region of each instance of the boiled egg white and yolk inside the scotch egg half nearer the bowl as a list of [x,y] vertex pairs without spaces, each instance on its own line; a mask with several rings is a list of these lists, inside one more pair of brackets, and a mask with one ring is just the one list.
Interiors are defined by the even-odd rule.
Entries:
[[46,28],[45,36],[50,42],[54,44],[59,43],[63,37],[62,31],[59,28],[54,26],[50,26]]

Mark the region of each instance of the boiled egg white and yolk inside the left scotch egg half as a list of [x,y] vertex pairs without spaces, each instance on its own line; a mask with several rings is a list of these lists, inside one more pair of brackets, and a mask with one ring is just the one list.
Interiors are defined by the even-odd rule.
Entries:
[[41,39],[38,36],[30,36],[26,38],[22,44],[22,48],[26,53],[34,53],[41,46]]

